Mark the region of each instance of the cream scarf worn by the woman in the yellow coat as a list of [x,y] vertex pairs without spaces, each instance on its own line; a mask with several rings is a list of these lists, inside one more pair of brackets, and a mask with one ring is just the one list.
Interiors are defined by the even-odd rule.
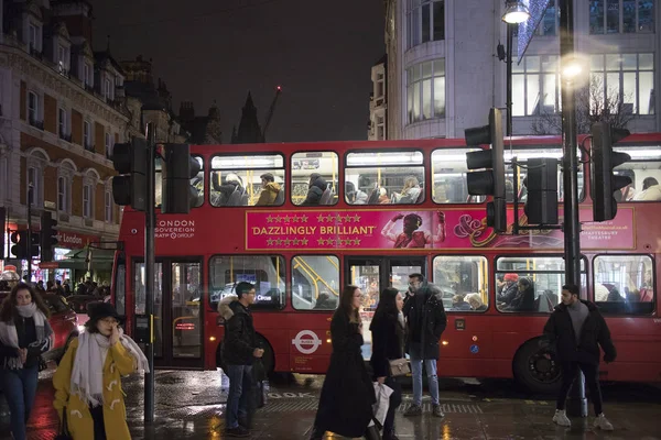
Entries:
[[[148,372],[149,364],[140,346],[119,329],[119,342],[133,359],[133,372]],[[91,406],[104,403],[104,351],[110,340],[100,333],[84,331],[78,336],[78,350],[72,371],[71,393]]]

